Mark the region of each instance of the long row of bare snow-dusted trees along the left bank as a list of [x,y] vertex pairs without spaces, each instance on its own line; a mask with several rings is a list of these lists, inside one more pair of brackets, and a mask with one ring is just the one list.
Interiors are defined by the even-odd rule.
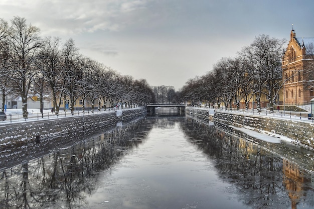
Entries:
[[[134,80],[120,75],[107,66],[79,53],[72,39],[61,43],[58,37],[40,37],[40,29],[27,25],[25,18],[15,17],[11,25],[0,19],[0,89],[2,110],[9,94],[22,98],[23,115],[28,116],[27,98],[30,92],[43,97],[49,94],[56,114],[61,100],[74,104],[82,98],[98,108],[107,101],[113,103],[144,104],[153,102],[153,92],[145,79]],[[65,102],[64,102],[65,105]],[[93,109],[94,107],[92,107]]]

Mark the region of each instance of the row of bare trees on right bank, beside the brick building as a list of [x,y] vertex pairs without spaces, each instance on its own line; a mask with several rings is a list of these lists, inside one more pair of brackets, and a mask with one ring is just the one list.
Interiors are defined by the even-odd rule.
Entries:
[[281,59],[285,40],[260,35],[251,45],[243,47],[235,58],[222,58],[213,70],[203,76],[190,79],[182,88],[182,98],[193,104],[223,102],[231,108],[239,109],[241,100],[256,101],[260,110],[260,99],[264,94],[269,98],[269,106],[277,97],[282,82]]

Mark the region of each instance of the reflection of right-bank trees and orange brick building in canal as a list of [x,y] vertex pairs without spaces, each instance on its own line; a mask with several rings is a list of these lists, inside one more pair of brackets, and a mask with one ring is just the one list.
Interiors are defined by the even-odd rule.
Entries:
[[[218,125],[218,127],[217,127]],[[215,159],[220,178],[232,183],[240,200],[252,208],[314,208],[313,152],[291,144],[246,138],[227,126],[187,119],[189,141]],[[222,130],[223,129],[223,130]],[[229,130],[227,130],[229,129]],[[230,134],[232,133],[232,134]]]

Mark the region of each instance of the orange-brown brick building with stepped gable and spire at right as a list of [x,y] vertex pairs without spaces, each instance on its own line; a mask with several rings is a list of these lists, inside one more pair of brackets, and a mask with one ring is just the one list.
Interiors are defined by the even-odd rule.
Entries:
[[285,104],[309,104],[314,98],[314,38],[296,38],[292,28],[282,56],[283,99]]

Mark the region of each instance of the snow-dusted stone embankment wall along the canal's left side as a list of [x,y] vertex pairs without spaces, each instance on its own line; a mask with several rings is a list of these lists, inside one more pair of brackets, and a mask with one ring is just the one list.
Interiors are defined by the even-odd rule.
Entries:
[[41,142],[47,139],[49,141],[51,138],[56,140],[67,138],[68,140],[64,140],[66,142],[75,141],[89,134],[103,132],[116,126],[119,121],[129,121],[145,115],[146,109],[141,108],[123,110],[121,116],[116,116],[112,112],[3,125],[0,127],[0,148],[23,146],[38,139]]

